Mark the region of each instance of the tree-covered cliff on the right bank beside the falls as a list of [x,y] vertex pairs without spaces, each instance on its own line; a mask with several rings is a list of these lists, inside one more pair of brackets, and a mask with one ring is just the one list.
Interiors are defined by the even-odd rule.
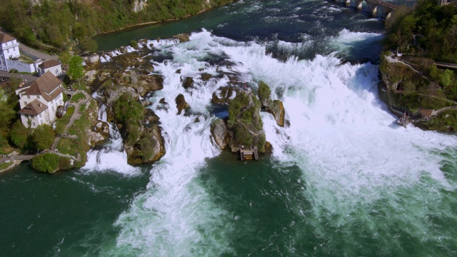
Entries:
[[[381,97],[389,106],[416,116],[420,109],[455,106],[456,73],[437,66],[437,61],[457,64],[456,5],[420,0],[413,11],[399,12],[388,22],[386,50],[401,53],[398,57],[388,52],[381,56],[379,69],[386,89]],[[452,112],[418,126],[449,131]]]

